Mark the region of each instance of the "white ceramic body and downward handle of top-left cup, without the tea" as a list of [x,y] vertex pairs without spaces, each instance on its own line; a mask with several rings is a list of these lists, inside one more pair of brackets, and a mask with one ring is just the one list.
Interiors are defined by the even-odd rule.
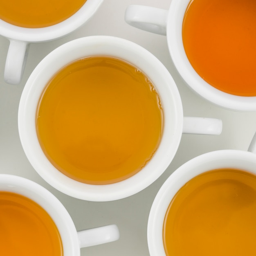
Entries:
[[25,28],[0,20],[0,35],[10,41],[4,80],[10,84],[20,83],[30,43],[50,41],[70,34],[87,22],[102,2],[103,0],[87,0],[70,18],[49,27]]

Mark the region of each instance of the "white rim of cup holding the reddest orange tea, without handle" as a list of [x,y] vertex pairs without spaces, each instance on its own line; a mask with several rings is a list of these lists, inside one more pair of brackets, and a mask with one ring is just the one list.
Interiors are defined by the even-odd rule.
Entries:
[[256,96],[245,97],[222,92],[204,81],[189,63],[182,43],[182,21],[189,2],[190,0],[173,0],[168,11],[167,42],[177,71],[189,87],[215,105],[229,110],[256,111]]

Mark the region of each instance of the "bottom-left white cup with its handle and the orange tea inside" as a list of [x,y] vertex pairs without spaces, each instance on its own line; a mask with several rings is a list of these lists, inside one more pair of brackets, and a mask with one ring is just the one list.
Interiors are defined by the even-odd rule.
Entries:
[[[2,197],[2,193],[9,194],[10,200],[6,200],[5,197]],[[13,197],[15,198],[16,195],[25,198],[23,201],[13,201]],[[32,200],[32,204],[38,204],[39,209],[42,207],[43,211],[46,211],[50,216],[58,230],[60,238],[57,238],[54,242],[51,240],[54,236],[50,236],[51,232],[47,230],[49,226],[45,228],[45,224],[41,223],[45,221],[45,218],[40,218],[37,215],[38,211],[33,212],[34,209],[32,210],[28,207],[29,204],[27,205],[27,202],[30,200]],[[28,241],[29,237],[33,238],[34,234],[40,235],[40,237],[36,239],[41,243],[47,241],[47,245],[49,245],[49,251],[47,251],[49,254],[47,255],[52,255],[50,253],[53,252],[52,248],[55,247],[52,243],[56,243],[58,239],[61,240],[59,241],[60,245],[58,245],[62,247],[58,250],[60,251],[58,252],[60,254],[53,254],[54,256],[79,256],[80,248],[82,247],[109,243],[119,239],[119,229],[116,225],[76,231],[74,222],[63,204],[61,204],[61,202],[43,186],[23,177],[0,174],[0,207],[2,209],[0,219],[2,224],[4,223],[4,226],[1,224],[1,227],[3,228],[1,229],[1,233],[3,233],[6,243],[12,244],[13,248],[15,248],[12,250],[12,248],[1,246],[0,252],[2,252],[2,255],[14,251],[26,255],[42,255],[42,252],[37,252],[39,248],[35,248],[35,245],[31,244],[31,241]],[[7,216],[8,220],[4,219],[3,216]],[[17,238],[17,235],[13,234],[12,236],[12,234],[10,234],[11,232],[15,232],[15,227],[8,226],[9,220],[16,224],[20,223],[17,227],[18,234],[24,234],[24,236],[27,234],[28,237],[22,237],[16,243],[16,240],[14,240],[13,237]],[[31,227],[27,227],[27,230],[24,230],[22,233],[22,225],[25,225],[24,222],[31,224]],[[38,233],[41,226],[43,227],[42,236]],[[26,227],[24,228],[26,229]],[[33,229],[35,229],[35,233],[33,233]],[[31,233],[28,232],[28,230],[31,231]],[[1,243],[4,243],[4,239],[1,240]],[[21,243],[21,241],[23,241],[23,243]],[[45,246],[46,243],[43,244],[43,247]],[[7,249],[8,252],[3,252],[2,250],[4,250],[4,248]]]

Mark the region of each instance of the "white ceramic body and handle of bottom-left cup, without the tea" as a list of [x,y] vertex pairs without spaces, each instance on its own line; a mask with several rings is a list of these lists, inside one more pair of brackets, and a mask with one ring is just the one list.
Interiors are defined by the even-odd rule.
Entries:
[[47,211],[60,233],[63,255],[79,256],[80,248],[109,243],[119,239],[119,229],[116,225],[76,231],[74,222],[63,204],[36,182],[15,175],[0,174],[0,191],[23,195]]

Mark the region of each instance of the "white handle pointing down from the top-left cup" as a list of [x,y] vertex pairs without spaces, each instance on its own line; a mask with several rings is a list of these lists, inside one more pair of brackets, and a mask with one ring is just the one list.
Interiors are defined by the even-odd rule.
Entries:
[[20,83],[27,61],[28,48],[27,42],[10,39],[4,69],[4,80],[7,83],[13,85]]

